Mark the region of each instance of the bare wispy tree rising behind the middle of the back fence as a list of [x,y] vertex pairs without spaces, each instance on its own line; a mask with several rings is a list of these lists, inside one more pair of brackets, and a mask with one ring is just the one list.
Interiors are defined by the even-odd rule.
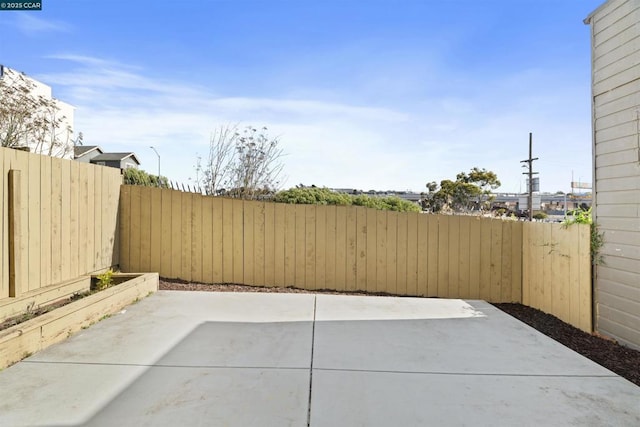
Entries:
[[266,127],[259,131],[252,126],[219,127],[211,135],[208,158],[204,164],[198,159],[198,185],[206,194],[242,199],[272,193],[283,169],[279,142],[268,135]]

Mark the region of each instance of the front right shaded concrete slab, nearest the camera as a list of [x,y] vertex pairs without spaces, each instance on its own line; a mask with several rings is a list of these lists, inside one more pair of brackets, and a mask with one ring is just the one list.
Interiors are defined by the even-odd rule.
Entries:
[[311,425],[638,426],[620,378],[313,371]]

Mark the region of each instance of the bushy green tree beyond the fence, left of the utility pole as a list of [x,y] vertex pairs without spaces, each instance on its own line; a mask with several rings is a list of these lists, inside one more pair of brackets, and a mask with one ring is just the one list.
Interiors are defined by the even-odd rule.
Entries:
[[428,183],[423,209],[430,212],[486,209],[493,198],[491,191],[500,185],[495,172],[474,167],[469,173],[460,172],[455,181],[445,179],[440,185],[435,181]]

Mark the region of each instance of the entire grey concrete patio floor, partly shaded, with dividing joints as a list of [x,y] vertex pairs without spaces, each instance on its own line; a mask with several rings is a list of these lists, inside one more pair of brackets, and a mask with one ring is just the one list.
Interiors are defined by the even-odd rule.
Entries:
[[161,291],[0,372],[2,426],[640,425],[483,301]]

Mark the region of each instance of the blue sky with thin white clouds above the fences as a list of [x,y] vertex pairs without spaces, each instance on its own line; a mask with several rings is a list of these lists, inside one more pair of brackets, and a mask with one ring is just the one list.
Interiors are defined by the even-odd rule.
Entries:
[[43,0],[0,12],[0,63],[76,107],[87,145],[196,178],[219,126],[266,126],[284,187],[423,191],[472,167],[591,181],[602,0]]

